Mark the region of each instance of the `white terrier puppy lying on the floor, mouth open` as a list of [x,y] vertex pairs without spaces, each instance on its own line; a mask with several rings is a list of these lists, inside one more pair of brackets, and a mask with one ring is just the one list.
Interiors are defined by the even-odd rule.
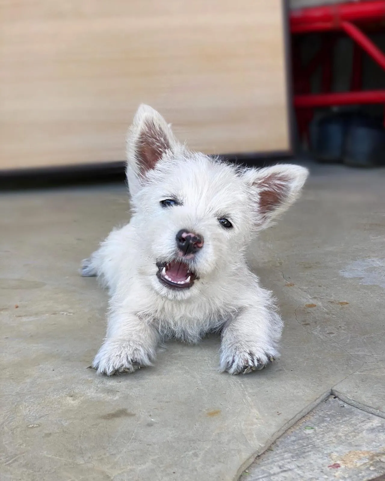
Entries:
[[282,320],[245,250],[298,197],[308,170],[240,168],[189,151],[141,105],[127,139],[132,216],[83,261],[110,293],[107,334],[92,366],[111,376],[151,366],[173,337],[221,336],[220,370],[246,374],[278,355]]

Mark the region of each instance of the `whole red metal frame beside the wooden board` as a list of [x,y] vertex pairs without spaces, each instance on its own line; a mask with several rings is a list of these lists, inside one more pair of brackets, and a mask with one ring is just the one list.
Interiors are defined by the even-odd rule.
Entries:
[[[295,37],[293,38],[294,106],[300,134],[307,134],[308,124],[315,107],[367,103],[383,103],[385,105],[385,89],[359,90],[362,78],[362,51],[370,55],[384,70],[385,54],[352,22],[363,26],[378,22],[385,24],[385,0],[312,7],[293,11],[290,15],[292,34],[342,31],[355,42],[351,91],[331,93],[332,53],[338,34],[330,37],[332,34],[329,33],[329,37],[323,39],[321,50],[305,68],[300,65],[298,44],[295,42]],[[322,93],[310,94],[310,76],[320,64],[322,67]]]

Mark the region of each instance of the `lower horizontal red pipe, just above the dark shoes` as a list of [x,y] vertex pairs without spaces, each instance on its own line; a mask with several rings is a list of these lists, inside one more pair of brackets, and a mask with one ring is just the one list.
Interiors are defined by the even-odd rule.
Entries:
[[298,109],[367,103],[385,104],[385,90],[366,90],[362,92],[338,92],[294,96],[294,106]]

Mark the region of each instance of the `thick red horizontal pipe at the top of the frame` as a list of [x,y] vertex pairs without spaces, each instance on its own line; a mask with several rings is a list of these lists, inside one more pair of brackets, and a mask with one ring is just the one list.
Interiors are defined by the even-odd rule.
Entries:
[[290,13],[292,33],[335,30],[341,22],[372,22],[385,20],[385,1],[342,3],[324,7],[294,10]]

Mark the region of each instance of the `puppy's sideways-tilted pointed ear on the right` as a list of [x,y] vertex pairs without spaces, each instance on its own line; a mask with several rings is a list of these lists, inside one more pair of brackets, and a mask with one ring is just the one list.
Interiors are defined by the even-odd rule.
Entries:
[[299,165],[274,165],[244,171],[243,177],[250,188],[257,228],[268,227],[275,217],[295,202],[308,173],[308,169]]

